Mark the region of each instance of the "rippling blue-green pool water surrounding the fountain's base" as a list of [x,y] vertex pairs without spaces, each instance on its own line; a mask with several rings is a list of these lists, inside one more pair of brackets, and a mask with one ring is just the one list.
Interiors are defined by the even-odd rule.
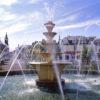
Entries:
[[[0,100],[61,100],[59,93],[40,91],[35,85],[37,76],[33,74],[25,76],[26,81],[23,75],[8,76],[0,92]],[[0,77],[0,84],[3,78]],[[65,79],[65,100],[68,100],[68,98],[69,100],[75,100],[76,96],[78,96],[78,100],[100,100],[100,76],[89,75],[85,77],[82,75],[77,77],[73,74],[63,74],[62,78]],[[87,86],[91,88],[89,88],[89,91],[84,90]],[[78,95],[77,92],[73,92],[75,89],[78,89]]]

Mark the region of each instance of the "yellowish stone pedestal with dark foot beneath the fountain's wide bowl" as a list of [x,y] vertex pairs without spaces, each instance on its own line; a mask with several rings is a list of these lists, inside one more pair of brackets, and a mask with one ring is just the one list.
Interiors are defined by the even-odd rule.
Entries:
[[51,64],[41,64],[37,69],[39,79],[36,81],[37,86],[55,88],[57,80]]

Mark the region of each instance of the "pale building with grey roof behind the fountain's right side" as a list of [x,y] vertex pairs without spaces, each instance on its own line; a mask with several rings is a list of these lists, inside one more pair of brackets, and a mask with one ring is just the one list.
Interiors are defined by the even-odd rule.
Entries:
[[80,60],[83,47],[90,48],[91,41],[95,37],[84,36],[67,36],[60,41],[61,52],[63,52],[63,60],[75,61]]

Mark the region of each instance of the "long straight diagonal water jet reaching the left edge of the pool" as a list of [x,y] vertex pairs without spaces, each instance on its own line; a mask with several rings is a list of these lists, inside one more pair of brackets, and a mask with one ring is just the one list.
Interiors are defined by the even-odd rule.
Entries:
[[3,82],[2,82],[1,85],[0,85],[0,91],[1,91],[2,87],[4,86],[4,83],[5,83],[5,81],[6,81],[7,77],[8,77],[8,74],[9,74],[9,72],[11,71],[11,69],[12,69],[12,67],[13,67],[13,65],[14,65],[14,63],[15,63],[15,61],[17,60],[19,54],[20,54],[21,51],[23,50],[23,47],[24,47],[24,46],[22,46],[22,48],[19,50],[18,54],[16,55],[15,59],[13,60],[11,66],[10,66],[10,68],[9,68],[9,70],[8,70],[8,72],[7,72],[7,74],[6,74],[5,78],[4,78],[4,80],[3,80]]

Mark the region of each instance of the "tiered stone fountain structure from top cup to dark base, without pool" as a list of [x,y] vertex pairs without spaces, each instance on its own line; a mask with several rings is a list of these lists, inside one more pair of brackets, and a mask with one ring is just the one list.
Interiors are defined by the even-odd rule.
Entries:
[[[55,24],[52,21],[49,21],[44,24],[48,30],[48,32],[44,32],[43,34],[46,36],[46,52],[35,52],[36,55],[41,56],[44,61],[43,62],[35,62],[32,61],[30,64],[32,66],[36,67],[38,77],[39,79],[36,80],[36,84],[39,87],[48,87],[50,89],[54,89],[55,87],[58,87],[57,84],[57,78],[54,71],[54,65],[57,66],[59,70],[59,75],[61,76],[61,73],[63,71],[63,68],[65,65],[71,64],[71,62],[64,62],[61,60],[54,60],[52,56],[61,54],[60,52],[54,52],[54,45],[53,45],[53,38],[57,34],[55,32],[52,32]],[[61,78],[61,77],[60,77]],[[62,84],[64,84],[64,80],[61,81]]]

